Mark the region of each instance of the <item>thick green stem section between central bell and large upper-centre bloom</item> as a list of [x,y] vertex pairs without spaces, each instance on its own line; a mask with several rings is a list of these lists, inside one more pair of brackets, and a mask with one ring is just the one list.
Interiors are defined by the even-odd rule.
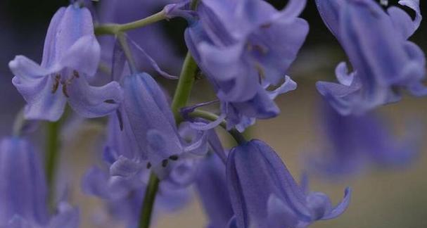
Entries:
[[182,117],[179,113],[179,109],[186,106],[187,101],[190,98],[191,89],[193,88],[194,80],[196,79],[197,64],[190,53],[187,53],[184,65],[182,66],[181,74],[179,75],[179,81],[177,90],[172,100],[172,112],[177,123],[182,121]]

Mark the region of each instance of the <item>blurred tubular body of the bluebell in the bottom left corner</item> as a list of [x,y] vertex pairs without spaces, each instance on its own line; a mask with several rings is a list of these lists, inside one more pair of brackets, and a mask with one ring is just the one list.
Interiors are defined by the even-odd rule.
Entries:
[[46,224],[47,186],[37,155],[25,139],[1,139],[0,224],[7,224],[13,215],[23,217],[30,224]]

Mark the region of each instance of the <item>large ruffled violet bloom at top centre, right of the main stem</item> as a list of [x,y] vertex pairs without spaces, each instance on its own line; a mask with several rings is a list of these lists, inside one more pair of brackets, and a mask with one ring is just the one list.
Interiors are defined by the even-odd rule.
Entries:
[[278,115],[272,100],[296,88],[286,71],[308,32],[298,18],[304,6],[294,0],[277,11],[265,1],[200,2],[186,44],[222,101],[230,127]]

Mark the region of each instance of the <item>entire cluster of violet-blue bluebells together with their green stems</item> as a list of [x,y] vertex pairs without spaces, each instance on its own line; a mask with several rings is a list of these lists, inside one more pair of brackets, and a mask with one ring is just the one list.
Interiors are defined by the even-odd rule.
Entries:
[[[402,89],[427,94],[425,57],[407,40],[421,23],[419,1],[399,1],[415,11],[414,20],[402,8],[384,9],[374,0],[316,4],[353,71],[340,63],[339,83],[317,82],[332,153],[307,164],[330,176],[358,170],[366,160],[406,164],[416,155],[419,134],[396,141],[368,112],[400,100]],[[48,120],[48,143],[55,145],[62,120],[75,114],[107,119],[101,121],[107,122],[102,163],[82,178],[82,191],[104,202],[105,210],[97,213],[106,217],[96,220],[101,227],[148,227],[152,213],[189,202],[193,187],[212,228],[302,228],[341,215],[350,188],[333,206],[326,194],[296,182],[273,148],[241,134],[255,120],[279,115],[274,99],[297,88],[287,74],[309,32],[300,18],[305,5],[290,0],[278,10],[264,0],[103,1],[96,11],[89,1],[73,1],[58,9],[42,63],[25,56],[9,63],[13,85],[27,104],[13,137],[0,142],[0,227],[79,226],[78,210],[66,197],[55,199],[56,183],[46,182],[45,173],[51,180],[56,170],[43,170],[25,135],[30,120]],[[151,25],[173,18],[188,23],[189,52],[179,77],[166,71],[176,70],[180,57],[161,27]],[[178,78],[172,99],[158,77]],[[214,101],[190,103],[196,77],[209,82]],[[217,112],[199,110],[212,103],[219,103]],[[67,113],[67,104],[75,114]],[[218,126],[236,146],[224,148]],[[46,152],[46,167],[58,162],[50,160],[56,147]]]

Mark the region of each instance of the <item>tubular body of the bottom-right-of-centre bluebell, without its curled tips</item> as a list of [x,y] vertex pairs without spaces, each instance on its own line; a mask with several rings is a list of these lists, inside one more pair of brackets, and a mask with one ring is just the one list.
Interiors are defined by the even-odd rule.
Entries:
[[300,219],[311,220],[302,189],[279,156],[262,141],[249,141],[231,150],[227,183],[238,227],[267,224],[267,202],[271,194],[286,202]]

